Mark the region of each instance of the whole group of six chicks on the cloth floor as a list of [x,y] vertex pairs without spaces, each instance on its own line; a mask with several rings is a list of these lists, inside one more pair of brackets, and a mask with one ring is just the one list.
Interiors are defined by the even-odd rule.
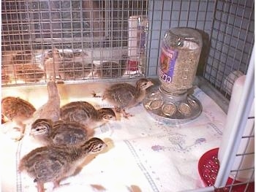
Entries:
[[106,88],[102,99],[113,104],[111,108],[95,109],[86,101],[72,101],[60,106],[56,82],[48,82],[48,101],[36,110],[28,101],[7,96],[1,101],[3,115],[20,128],[22,139],[26,120],[32,119],[29,137],[34,137],[43,147],[26,154],[19,164],[20,172],[25,171],[37,183],[37,191],[45,191],[44,183],[53,182],[54,187],[65,177],[74,174],[86,155],[99,153],[107,144],[93,137],[94,128],[109,120],[116,120],[116,112],[124,118],[132,116],[126,109],[134,107],[146,96],[146,88],[153,85],[145,78],[133,86],[118,83]]

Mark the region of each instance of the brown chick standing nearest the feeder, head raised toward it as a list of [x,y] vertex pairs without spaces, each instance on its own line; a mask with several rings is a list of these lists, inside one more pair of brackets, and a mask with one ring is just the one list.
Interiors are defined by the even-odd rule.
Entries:
[[131,115],[125,112],[125,109],[139,104],[146,96],[146,88],[151,85],[153,83],[144,78],[138,80],[135,86],[129,83],[114,84],[105,89],[102,99],[106,99],[110,104],[113,104],[117,111],[123,113],[124,118],[128,118]]

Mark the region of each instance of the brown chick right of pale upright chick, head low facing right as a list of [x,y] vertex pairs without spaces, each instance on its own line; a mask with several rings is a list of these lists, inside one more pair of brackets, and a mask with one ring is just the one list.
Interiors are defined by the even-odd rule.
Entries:
[[116,120],[116,114],[111,108],[95,109],[86,101],[73,101],[61,107],[61,120],[77,121],[95,128],[110,120]]

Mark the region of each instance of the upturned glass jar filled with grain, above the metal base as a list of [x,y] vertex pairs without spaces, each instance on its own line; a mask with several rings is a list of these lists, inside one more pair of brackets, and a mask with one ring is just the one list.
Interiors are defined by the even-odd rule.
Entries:
[[193,28],[177,27],[162,40],[159,81],[168,93],[183,94],[192,88],[202,49],[202,37]]

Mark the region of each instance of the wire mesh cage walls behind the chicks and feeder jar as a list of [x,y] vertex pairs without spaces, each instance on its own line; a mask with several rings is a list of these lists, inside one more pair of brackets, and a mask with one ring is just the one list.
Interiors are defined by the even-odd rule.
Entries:
[[[5,0],[1,7],[3,87],[37,85],[51,77],[64,82],[157,77],[161,40],[177,26],[200,31],[197,75],[227,99],[252,57],[253,0]],[[140,20],[140,26],[138,18],[132,23],[132,16],[145,17],[146,24]],[[131,62],[132,54],[138,61]]]

